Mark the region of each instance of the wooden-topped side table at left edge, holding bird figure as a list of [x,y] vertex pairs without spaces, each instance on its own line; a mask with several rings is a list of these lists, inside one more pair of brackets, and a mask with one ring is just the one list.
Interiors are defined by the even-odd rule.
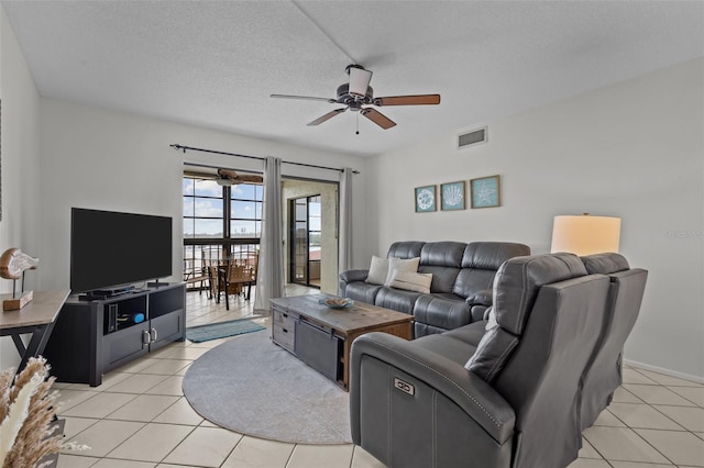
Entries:
[[[68,298],[70,291],[34,291],[34,300],[16,311],[0,312],[0,336],[12,336],[14,346],[20,353],[18,374],[24,369],[31,357],[44,353],[56,316]],[[30,343],[24,346],[20,335],[31,333]],[[51,364],[51,363],[50,363]]]

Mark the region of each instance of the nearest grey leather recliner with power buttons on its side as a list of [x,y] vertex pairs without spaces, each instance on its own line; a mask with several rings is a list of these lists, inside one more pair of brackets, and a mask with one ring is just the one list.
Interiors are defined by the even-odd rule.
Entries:
[[354,443],[389,467],[565,467],[608,290],[572,254],[517,257],[496,274],[497,326],[479,344],[479,323],[413,342],[359,337]]

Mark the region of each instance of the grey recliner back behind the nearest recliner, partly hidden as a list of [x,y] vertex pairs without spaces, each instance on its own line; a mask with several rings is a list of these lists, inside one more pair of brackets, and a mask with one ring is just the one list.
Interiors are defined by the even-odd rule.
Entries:
[[624,344],[638,319],[648,271],[630,268],[619,254],[590,255],[582,261],[587,272],[608,275],[610,279],[606,320],[583,380],[581,424],[586,428],[608,406],[623,381]]

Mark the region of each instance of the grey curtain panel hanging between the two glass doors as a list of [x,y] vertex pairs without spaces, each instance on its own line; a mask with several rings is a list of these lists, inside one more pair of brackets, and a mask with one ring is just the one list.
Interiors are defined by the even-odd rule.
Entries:
[[254,311],[268,314],[270,299],[285,296],[280,158],[272,156],[266,158],[263,210]]

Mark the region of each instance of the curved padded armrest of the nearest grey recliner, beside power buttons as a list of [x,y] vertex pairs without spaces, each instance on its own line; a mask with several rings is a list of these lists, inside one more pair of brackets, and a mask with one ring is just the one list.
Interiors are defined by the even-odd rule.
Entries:
[[488,383],[437,353],[381,332],[364,334],[352,345],[350,420],[353,434],[360,427],[360,368],[363,356],[374,357],[433,387],[460,406],[498,444],[512,437],[516,421],[514,410]]

